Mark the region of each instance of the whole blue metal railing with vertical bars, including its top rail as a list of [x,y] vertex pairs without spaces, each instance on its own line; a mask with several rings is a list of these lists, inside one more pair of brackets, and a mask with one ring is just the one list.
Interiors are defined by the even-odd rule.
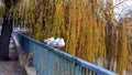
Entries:
[[100,66],[94,65],[44,43],[13,32],[22,50],[33,53],[32,64],[37,75],[116,75]]

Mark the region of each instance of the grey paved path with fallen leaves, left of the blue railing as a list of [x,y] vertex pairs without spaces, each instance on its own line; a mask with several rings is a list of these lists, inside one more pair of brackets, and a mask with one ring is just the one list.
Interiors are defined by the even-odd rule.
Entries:
[[10,54],[9,56],[14,61],[2,62],[0,61],[0,75],[25,75],[20,63],[15,61],[18,53],[14,47],[13,39],[10,41]]

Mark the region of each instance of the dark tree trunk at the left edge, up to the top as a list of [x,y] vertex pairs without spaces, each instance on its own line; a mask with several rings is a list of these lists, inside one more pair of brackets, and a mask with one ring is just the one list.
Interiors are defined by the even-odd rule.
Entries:
[[9,61],[9,44],[12,33],[12,18],[8,19],[8,14],[10,13],[11,7],[15,4],[18,0],[3,0],[3,2],[6,13],[3,17],[3,24],[0,36],[0,60]]

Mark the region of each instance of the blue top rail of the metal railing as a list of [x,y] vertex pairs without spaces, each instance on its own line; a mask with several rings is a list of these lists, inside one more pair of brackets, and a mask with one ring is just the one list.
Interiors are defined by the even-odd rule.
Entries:
[[86,68],[88,68],[88,69],[91,69],[91,71],[94,71],[94,72],[96,72],[96,73],[103,74],[103,75],[117,75],[116,73],[110,72],[110,71],[108,71],[108,69],[105,69],[105,68],[101,67],[101,66],[97,66],[97,65],[91,64],[91,63],[88,63],[88,62],[86,62],[86,61],[84,61],[84,60],[81,60],[81,58],[78,58],[78,57],[76,57],[76,56],[69,55],[69,54],[67,54],[67,53],[65,53],[65,52],[58,51],[57,49],[54,49],[54,47],[48,46],[48,45],[46,45],[46,44],[44,44],[44,43],[41,43],[41,42],[38,42],[38,41],[36,41],[36,40],[33,40],[33,39],[31,39],[31,38],[29,38],[29,36],[26,36],[26,35],[23,35],[23,34],[21,34],[20,32],[13,31],[13,34],[14,34],[14,33],[18,33],[18,34],[22,35],[23,38],[29,39],[29,40],[32,41],[33,43],[36,43],[36,44],[40,45],[40,46],[46,47],[47,51],[51,51],[51,52],[53,52],[53,53],[55,53],[55,54],[57,54],[57,55],[59,55],[59,56],[63,56],[63,57],[65,57],[65,58],[67,58],[67,60],[69,60],[69,61],[73,61],[73,62],[75,62],[75,64],[80,65],[80,66],[82,66],[82,67],[86,67]]

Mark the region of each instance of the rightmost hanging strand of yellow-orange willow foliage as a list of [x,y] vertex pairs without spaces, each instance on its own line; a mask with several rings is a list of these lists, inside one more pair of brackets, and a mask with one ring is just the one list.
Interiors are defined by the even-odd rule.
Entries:
[[119,50],[117,56],[117,73],[119,75],[123,75],[123,71],[128,69],[128,38],[127,38],[127,26],[128,24],[124,22],[120,26],[120,35],[119,36]]

